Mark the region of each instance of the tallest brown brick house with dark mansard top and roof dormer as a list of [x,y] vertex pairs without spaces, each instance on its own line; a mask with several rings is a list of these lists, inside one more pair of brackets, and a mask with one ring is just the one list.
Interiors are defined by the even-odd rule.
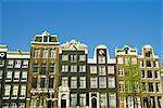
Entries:
[[58,35],[46,30],[34,36],[26,108],[58,107],[59,44]]

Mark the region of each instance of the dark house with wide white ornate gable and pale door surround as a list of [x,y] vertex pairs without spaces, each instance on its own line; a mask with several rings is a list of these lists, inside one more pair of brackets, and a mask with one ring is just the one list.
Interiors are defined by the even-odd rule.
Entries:
[[59,108],[87,108],[87,45],[76,40],[60,46]]

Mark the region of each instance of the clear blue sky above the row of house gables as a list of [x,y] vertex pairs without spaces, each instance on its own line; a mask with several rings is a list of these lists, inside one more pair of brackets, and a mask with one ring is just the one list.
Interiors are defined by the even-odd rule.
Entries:
[[150,43],[163,57],[162,0],[0,0],[0,43],[29,51],[35,33],[58,33],[88,45],[89,57],[98,43],[110,55],[124,44]]

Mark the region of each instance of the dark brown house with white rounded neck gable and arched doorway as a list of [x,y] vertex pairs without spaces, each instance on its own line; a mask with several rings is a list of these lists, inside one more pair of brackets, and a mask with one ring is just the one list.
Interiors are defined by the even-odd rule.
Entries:
[[104,44],[98,44],[93,58],[88,58],[87,78],[89,108],[116,108],[118,103],[115,58],[110,58]]

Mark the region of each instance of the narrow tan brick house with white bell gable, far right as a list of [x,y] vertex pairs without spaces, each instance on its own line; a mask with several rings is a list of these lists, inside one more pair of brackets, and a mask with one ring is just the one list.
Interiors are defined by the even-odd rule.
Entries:
[[142,87],[142,107],[162,108],[163,86],[161,86],[161,83],[163,80],[161,80],[160,58],[154,54],[154,50],[150,44],[142,46],[139,60]]

